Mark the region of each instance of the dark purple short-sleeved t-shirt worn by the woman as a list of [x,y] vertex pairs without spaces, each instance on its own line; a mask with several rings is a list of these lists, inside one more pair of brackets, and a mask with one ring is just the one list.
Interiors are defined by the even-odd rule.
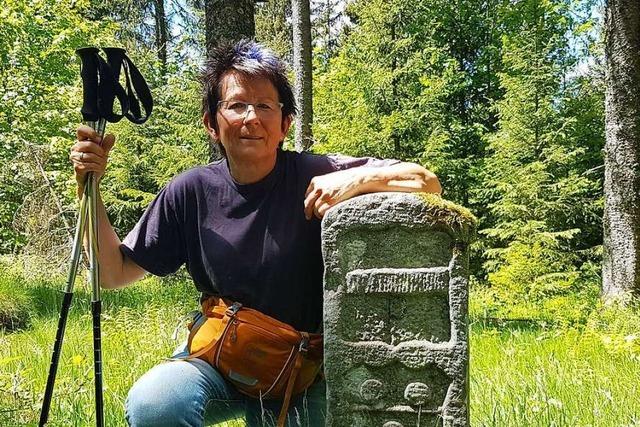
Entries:
[[120,246],[164,276],[186,264],[198,291],[239,301],[303,331],[322,321],[320,221],[304,217],[311,178],[397,161],[278,150],[274,169],[236,183],[226,160],[174,178]]

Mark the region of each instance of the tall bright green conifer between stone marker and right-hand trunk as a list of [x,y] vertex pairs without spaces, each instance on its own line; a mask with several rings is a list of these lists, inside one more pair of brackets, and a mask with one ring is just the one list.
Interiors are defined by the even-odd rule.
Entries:
[[[568,2],[546,0],[520,2],[507,15],[504,97],[476,193],[489,207],[481,234],[492,292],[515,303],[512,311],[535,306],[561,319],[581,295],[593,304],[598,277],[587,266],[601,242],[602,180],[590,171],[602,164],[602,92],[565,80],[575,64],[571,16]],[[585,122],[595,124],[588,138],[578,126]]]

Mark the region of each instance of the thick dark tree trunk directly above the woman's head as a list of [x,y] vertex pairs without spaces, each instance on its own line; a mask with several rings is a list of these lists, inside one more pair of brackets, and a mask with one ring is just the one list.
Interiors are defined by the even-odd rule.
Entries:
[[207,52],[223,41],[255,37],[254,0],[205,0]]

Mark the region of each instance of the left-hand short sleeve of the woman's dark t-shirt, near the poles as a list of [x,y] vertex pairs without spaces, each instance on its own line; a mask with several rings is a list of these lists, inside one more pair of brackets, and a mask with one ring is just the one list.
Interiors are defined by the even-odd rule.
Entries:
[[175,273],[186,259],[177,200],[175,186],[162,189],[120,245],[123,254],[157,276]]

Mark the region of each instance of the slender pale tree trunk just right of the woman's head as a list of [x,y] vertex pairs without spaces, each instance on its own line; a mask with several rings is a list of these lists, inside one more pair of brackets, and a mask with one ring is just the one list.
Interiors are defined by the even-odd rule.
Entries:
[[296,115],[295,145],[297,151],[305,151],[313,144],[313,98],[311,85],[311,16],[309,0],[291,0],[293,21],[293,73]]

